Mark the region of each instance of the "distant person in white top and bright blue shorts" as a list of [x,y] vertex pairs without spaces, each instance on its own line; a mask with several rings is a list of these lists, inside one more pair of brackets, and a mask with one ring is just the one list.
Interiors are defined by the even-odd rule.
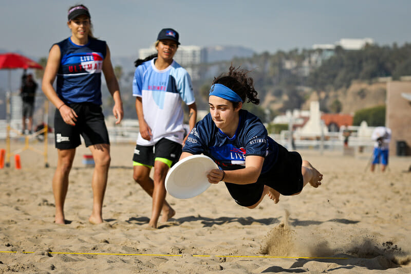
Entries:
[[384,172],[388,165],[389,142],[391,141],[391,130],[385,126],[377,126],[372,134],[371,139],[374,142],[374,151],[372,153],[371,172],[375,170],[378,163],[381,163],[381,171]]

